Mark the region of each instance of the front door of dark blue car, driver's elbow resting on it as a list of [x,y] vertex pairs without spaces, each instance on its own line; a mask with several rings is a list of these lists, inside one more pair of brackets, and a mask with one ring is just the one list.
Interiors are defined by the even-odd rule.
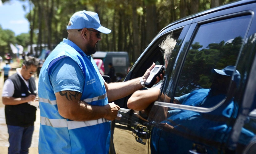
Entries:
[[[126,75],[126,80],[138,78],[144,75],[145,71],[154,62],[157,65],[164,65],[163,53],[159,44],[172,34],[173,38],[180,40],[177,42],[176,50],[179,50],[182,40],[187,34],[189,23],[192,20],[182,24],[177,24],[173,27],[168,27],[159,33],[141,54],[135,62],[129,73]],[[184,25],[185,24],[185,25]],[[150,153],[150,125],[147,120],[145,111],[135,111],[127,108],[127,100],[130,96],[114,101],[121,109],[118,111],[118,117],[111,122],[111,153]]]

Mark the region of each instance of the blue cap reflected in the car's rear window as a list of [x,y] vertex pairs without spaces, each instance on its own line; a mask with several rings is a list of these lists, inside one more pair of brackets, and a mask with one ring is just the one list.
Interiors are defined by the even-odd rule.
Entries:
[[222,70],[212,69],[211,72],[217,73],[219,75],[225,75],[225,76],[233,75],[234,79],[232,79],[232,80],[235,81],[236,86],[238,87],[241,75],[240,75],[239,71],[237,71],[235,69],[235,66],[227,66],[227,67],[223,68]]

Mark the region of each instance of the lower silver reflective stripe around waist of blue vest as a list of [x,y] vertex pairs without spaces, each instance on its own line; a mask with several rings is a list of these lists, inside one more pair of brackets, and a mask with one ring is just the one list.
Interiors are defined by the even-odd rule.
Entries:
[[90,121],[67,121],[67,119],[48,119],[47,117],[40,117],[41,125],[52,126],[54,128],[68,128],[77,129],[82,127],[88,127],[92,125],[109,122],[107,119],[100,118],[97,120]]

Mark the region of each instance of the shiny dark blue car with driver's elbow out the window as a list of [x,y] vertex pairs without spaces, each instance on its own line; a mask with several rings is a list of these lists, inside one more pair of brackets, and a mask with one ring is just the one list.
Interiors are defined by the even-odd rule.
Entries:
[[[129,96],[114,101],[121,109],[112,121],[111,153],[255,153],[255,12],[256,1],[243,0],[162,29],[124,78],[141,77],[153,62],[164,65],[159,44],[172,34],[177,43],[158,101],[142,111],[127,108]],[[227,66],[234,69],[229,78],[222,76],[227,81],[225,94],[206,103],[214,72]],[[185,94],[186,103],[176,104],[175,99]]]

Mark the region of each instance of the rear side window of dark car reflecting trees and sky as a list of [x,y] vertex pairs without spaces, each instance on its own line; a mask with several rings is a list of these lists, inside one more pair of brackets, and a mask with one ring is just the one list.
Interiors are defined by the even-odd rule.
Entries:
[[[195,93],[201,90],[207,95],[213,91],[211,90],[213,88],[223,90],[224,96],[222,98],[225,98],[232,80],[231,77],[228,78],[227,74],[218,76],[218,71],[223,71],[228,66],[235,68],[249,22],[250,16],[248,15],[208,22],[198,26],[175,90],[175,99],[180,104],[183,104],[188,94],[192,92]],[[230,28],[230,25],[232,25],[232,28]],[[234,70],[231,71],[235,72]],[[231,76],[233,74],[231,73]],[[220,80],[219,78],[223,79]],[[235,84],[236,81],[233,80]],[[218,87],[220,84],[221,86]],[[201,98],[201,101],[204,101],[204,97],[201,96]],[[212,107],[222,98],[204,107]],[[191,101],[185,103],[185,105],[200,106],[199,104],[193,104]]]

